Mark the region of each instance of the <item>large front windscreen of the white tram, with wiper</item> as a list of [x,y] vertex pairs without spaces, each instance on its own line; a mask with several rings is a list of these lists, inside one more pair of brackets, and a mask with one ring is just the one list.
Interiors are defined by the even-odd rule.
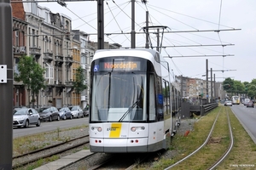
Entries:
[[145,121],[146,75],[97,73],[93,77],[92,122]]

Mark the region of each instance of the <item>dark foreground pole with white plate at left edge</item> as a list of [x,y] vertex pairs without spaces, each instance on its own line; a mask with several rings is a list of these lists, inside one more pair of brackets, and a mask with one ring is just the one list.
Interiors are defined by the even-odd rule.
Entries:
[[0,169],[13,161],[13,17],[10,0],[0,0]]

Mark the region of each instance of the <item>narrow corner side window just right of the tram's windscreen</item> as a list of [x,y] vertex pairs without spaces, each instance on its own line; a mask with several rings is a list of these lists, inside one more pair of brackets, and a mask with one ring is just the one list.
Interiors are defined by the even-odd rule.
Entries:
[[154,75],[149,78],[149,121],[155,120],[155,95],[154,95]]

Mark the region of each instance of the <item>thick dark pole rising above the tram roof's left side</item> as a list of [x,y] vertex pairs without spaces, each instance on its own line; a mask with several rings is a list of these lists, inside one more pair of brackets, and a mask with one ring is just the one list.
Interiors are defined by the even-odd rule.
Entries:
[[103,0],[98,0],[98,49],[104,49],[104,6]]

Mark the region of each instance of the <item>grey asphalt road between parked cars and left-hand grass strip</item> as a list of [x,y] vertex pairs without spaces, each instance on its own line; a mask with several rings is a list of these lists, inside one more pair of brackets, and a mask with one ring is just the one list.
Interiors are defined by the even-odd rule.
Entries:
[[35,133],[43,133],[43,132],[48,132],[52,130],[57,130],[58,128],[69,128],[69,127],[77,127],[77,126],[82,126],[82,125],[88,125],[89,118],[84,117],[84,118],[73,118],[72,120],[61,120],[61,121],[53,121],[53,122],[41,122],[40,127],[36,127],[36,125],[31,125],[30,127],[26,128],[18,128],[14,127],[13,128],[13,138],[21,137],[21,136],[26,136],[26,135],[31,135]]

